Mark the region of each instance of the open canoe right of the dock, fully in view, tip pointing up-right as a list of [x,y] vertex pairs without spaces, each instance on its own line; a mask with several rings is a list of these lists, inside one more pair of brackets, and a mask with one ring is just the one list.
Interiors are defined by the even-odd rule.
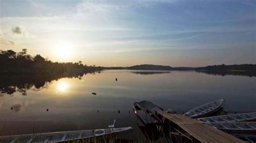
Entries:
[[211,116],[213,113],[221,109],[221,106],[224,103],[224,99],[219,99],[204,105],[200,105],[197,108],[194,108],[190,111],[184,113],[185,116],[190,118],[201,118]]

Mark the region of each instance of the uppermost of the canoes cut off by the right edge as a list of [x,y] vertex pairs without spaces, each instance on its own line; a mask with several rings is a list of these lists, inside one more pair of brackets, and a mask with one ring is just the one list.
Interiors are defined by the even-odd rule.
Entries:
[[223,122],[234,122],[234,121],[256,121],[256,112],[251,113],[236,113],[228,115],[219,115],[205,118],[198,118],[197,120],[205,123],[223,123]]

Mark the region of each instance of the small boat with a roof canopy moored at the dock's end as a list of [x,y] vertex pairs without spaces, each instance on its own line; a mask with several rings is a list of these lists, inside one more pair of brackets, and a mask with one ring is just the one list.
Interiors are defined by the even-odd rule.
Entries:
[[142,121],[144,125],[161,124],[163,121],[156,115],[156,110],[164,109],[149,101],[134,102],[133,112]]

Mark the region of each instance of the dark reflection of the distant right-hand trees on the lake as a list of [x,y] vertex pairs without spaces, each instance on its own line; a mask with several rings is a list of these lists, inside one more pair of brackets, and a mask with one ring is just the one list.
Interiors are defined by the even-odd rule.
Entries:
[[243,70],[197,70],[198,73],[205,73],[208,75],[235,75],[235,76],[256,76],[255,70],[252,71],[243,71]]

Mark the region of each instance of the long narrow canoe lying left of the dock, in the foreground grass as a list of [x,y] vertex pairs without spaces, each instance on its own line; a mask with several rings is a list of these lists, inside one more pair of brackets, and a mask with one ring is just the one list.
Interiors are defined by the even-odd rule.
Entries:
[[127,133],[132,127],[106,128],[97,130],[80,130],[68,132],[49,132],[1,136],[0,142],[63,142],[69,140],[107,137],[112,134]]

